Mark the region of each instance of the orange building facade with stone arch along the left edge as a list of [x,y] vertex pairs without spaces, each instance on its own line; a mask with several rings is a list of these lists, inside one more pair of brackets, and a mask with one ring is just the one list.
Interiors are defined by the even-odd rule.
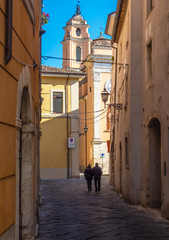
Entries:
[[2,240],[33,239],[36,234],[40,13],[41,1],[0,1]]

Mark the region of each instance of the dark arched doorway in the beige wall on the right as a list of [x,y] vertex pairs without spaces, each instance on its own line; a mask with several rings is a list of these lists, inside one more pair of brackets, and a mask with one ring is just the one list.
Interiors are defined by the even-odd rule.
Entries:
[[149,131],[149,204],[161,208],[161,124],[151,119]]

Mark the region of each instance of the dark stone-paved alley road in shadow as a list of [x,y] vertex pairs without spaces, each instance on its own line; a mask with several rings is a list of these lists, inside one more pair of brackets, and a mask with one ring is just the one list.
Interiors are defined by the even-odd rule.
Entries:
[[38,240],[169,240],[169,222],[131,206],[107,186],[88,192],[84,179],[41,182]]

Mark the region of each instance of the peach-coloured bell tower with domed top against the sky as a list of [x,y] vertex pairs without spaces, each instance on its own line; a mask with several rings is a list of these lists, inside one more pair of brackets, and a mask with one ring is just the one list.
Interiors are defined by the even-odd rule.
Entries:
[[80,70],[82,61],[90,54],[91,39],[88,33],[89,25],[81,16],[79,2],[76,13],[63,27],[65,30],[63,45],[63,68]]

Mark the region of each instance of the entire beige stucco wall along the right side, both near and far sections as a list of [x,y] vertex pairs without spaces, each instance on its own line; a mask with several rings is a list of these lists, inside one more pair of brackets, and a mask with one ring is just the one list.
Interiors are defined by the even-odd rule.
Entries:
[[[117,62],[128,68],[117,68],[117,111],[115,124],[114,174],[115,188],[127,195],[133,203],[151,207],[151,194],[157,188],[150,179],[160,179],[162,215],[169,216],[168,191],[168,9],[169,2],[153,1],[154,7],[147,15],[146,1],[129,0],[117,41]],[[152,79],[147,79],[147,44],[152,41]],[[114,65],[115,70],[115,65]],[[127,77],[127,78],[126,78]],[[114,87],[115,76],[113,77]],[[114,100],[114,95],[112,95]],[[153,162],[150,121],[160,124],[158,163]],[[129,164],[125,163],[125,137],[128,137]],[[120,157],[120,144],[121,154]],[[154,149],[155,150],[155,149]],[[159,164],[160,173],[154,173],[152,164]],[[165,166],[166,165],[166,172]],[[152,176],[153,175],[153,176]],[[159,186],[158,186],[159,187]],[[160,201],[160,200],[159,200]]]

